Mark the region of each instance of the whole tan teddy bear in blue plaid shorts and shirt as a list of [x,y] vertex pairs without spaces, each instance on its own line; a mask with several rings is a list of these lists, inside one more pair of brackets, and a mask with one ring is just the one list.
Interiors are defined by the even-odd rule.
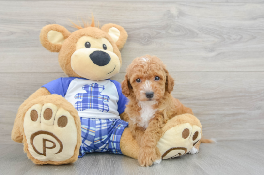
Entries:
[[[137,159],[139,146],[124,112],[127,98],[120,83],[109,79],[119,73],[127,32],[116,24],[95,27],[93,19],[91,25],[75,27],[72,33],[57,24],[41,30],[41,44],[59,52],[60,67],[68,77],[43,85],[21,104],[12,139],[24,144],[35,164],[72,163],[93,152]],[[169,120],[157,143],[162,157],[149,165],[188,153],[201,136],[201,123],[193,115]]]

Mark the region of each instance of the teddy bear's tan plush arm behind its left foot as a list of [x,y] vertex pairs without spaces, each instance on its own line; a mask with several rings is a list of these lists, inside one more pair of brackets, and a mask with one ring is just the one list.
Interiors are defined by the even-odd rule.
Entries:
[[16,119],[14,122],[14,127],[12,130],[12,140],[15,142],[22,143],[23,142],[23,117],[25,116],[25,113],[27,112],[27,108],[25,108],[29,103],[31,103],[32,100],[36,99],[40,96],[50,95],[50,92],[42,87],[38,89],[36,92],[34,92],[28,99],[26,99],[18,108]]

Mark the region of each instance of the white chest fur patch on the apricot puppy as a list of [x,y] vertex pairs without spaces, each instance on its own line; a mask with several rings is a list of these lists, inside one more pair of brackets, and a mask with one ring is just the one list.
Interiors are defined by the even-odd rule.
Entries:
[[152,108],[152,105],[154,105],[155,103],[156,101],[139,102],[141,106],[141,121],[138,123],[138,126],[144,127],[145,129],[148,127],[150,120],[155,117],[155,112],[157,111],[157,109]]

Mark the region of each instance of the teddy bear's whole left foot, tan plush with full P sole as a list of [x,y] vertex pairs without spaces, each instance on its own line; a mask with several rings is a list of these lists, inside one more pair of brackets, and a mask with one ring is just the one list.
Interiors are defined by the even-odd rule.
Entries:
[[75,162],[81,144],[80,118],[60,95],[31,101],[23,120],[24,151],[35,164]]

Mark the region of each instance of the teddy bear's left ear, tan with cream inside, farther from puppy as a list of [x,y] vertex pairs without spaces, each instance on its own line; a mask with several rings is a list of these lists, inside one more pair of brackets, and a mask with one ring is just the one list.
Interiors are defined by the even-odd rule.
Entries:
[[51,52],[59,52],[62,43],[71,35],[65,27],[58,24],[49,24],[40,32],[40,42],[44,48]]

